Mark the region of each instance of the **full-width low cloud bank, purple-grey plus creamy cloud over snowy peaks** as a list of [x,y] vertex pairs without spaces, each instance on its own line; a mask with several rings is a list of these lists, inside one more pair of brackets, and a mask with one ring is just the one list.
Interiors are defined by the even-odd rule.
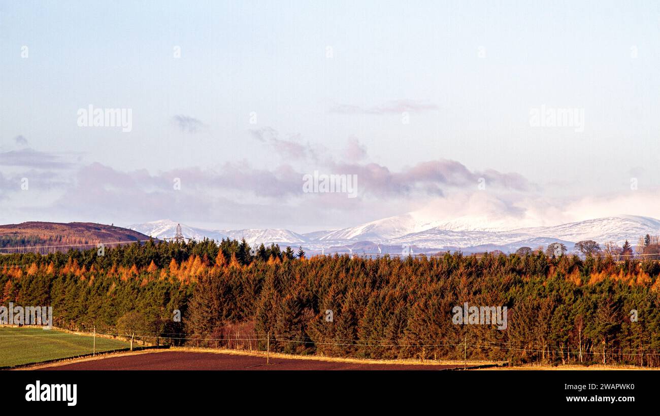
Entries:
[[[255,140],[279,149],[286,160],[275,167],[249,161],[213,169],[182,167],[160,172],[120,171],[102,163],[69,163],[64,156],[30,148],[0,154],[0,199],[5,221],[95,221],[136,223],[156,218],[214,223],[218,227],[288,227],[294,231],[337,228],[426,210],[428,218],[475,218],[494,228],[556,225],[635,214],[657,216],[658,189],[554,199],[523,175],[474,170],[455,160],[426,160],[402,169],[368,160],[355,137],[323,160],[270,128],[250,131]],[[292,144],[291,148],[285,146]],[[289,160],[299,156],[296,165]],[[304,193],[303,177],[319,171],[357,175],[358,197]],[[20,191],[28,177],[30,191]],[[180,183],[175,189],[174,183]],[[480,189],[479,185],[485,185]],[[568,185],[567,185],[568,186]],[[626,188],[626,189],[629,189]]]

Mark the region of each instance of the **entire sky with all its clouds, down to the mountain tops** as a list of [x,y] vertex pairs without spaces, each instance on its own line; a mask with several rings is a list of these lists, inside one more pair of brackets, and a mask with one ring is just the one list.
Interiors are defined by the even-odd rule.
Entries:
[[3,1],[0,223],[659,218],[659,68],[656,1]]

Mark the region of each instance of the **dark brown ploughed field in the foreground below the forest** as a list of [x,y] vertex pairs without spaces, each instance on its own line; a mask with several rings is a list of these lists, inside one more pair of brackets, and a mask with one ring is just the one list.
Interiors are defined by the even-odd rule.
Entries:
[[79,361],[43,370],[446,370],[461,365],[371,364],[317,359],[164,351]]

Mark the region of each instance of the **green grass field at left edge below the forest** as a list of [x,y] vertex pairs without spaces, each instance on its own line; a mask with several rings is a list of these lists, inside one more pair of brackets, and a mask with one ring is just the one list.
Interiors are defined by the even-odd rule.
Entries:
[[[0,328],[0,367],[41,363],[92,353],[91,336],[42,328]],[[96,352],[129,347],[129,343],[96,337]]]

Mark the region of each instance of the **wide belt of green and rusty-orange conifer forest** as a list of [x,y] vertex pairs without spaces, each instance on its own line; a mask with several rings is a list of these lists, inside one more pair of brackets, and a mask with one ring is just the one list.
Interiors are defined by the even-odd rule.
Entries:
[[[245,241],[149,241],[0,256],[0,304],[148,343],[374,359],[660,366],[660,264],[608,256],[311,256]],[[508,326],[453,307],[506,306]],[[180,311],[181,319],[176,319]]]

